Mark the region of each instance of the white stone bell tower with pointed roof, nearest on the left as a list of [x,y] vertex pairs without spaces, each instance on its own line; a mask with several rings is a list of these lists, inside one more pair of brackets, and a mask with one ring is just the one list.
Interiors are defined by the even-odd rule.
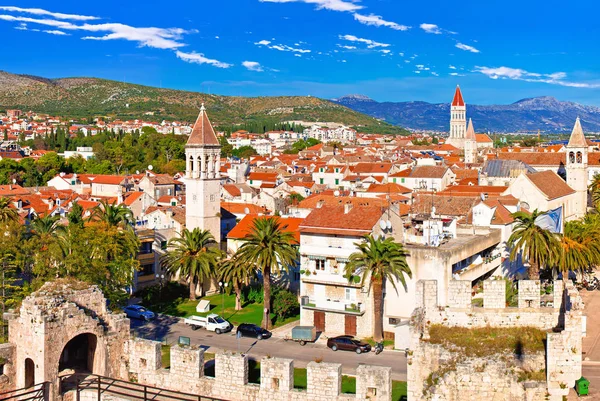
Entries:
[[204,104],[185,145],[185,226],[209,230],[221,242],[221,144]]

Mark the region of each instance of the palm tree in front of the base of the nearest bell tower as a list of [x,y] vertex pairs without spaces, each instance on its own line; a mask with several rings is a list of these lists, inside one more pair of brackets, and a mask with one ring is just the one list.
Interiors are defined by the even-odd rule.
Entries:
[[213,277],[219,267],[222,252],[208,230],[183,230],[181,236],[169,241],[170,250],[163,256],[163,265],[171,274],[178,274],[190,283],[190,299],[196,299],[198,283]]

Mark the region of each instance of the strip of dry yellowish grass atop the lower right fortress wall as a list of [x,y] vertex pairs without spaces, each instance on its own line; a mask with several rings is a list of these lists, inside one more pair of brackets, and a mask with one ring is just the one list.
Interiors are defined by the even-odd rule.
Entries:
[[489,356],[500,353],[543,352],[546,332],[535,327],[481,327],[467,329],[433,324],[429,341],[450,348],[462,348],[467,356]]

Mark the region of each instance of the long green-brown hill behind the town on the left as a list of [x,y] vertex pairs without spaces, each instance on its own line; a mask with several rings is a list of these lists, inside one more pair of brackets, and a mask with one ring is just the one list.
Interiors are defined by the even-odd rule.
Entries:
[[345,106],[309,96],[239,97],[161,89],[98,78],[47,79],[0,71],[0,109],[65,117],[194,121],[205,103],[213,124],[337,122],[365,132],[404,133]]

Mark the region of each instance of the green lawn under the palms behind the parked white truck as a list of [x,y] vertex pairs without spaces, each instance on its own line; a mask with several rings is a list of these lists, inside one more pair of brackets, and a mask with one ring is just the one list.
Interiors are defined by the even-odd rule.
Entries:
[[[222,316],[224,319],[229,320],[234,325],[239,325],[240,323],[254,323],[260,325],[262,320],[262,311],[263,305],[253,303],[243,305],[242,310],[235,310],[235,294],[227,295],[223,297],[221,294],[209,295],[206,297],[202,297],[201,299],[206,299],[210,301],[210,312],[216,313]],[[225,310],[223,310],[223,301],[225,301]],[[208,313],[198,313],[196,312],[196,305],[198,305],[199,300],[190,301],[185,300],[175,306],[175,308],[165,311],[173,316],[180,317],[189,317],[192,315],[198,316],[206,316]],[[284,324],[293,322],[294,320],[298,320],[300,315],[292,316],[290,318],[277,321],[274,314],[271,314],[271,321],[273,322],[274,327],[283,326]]]

